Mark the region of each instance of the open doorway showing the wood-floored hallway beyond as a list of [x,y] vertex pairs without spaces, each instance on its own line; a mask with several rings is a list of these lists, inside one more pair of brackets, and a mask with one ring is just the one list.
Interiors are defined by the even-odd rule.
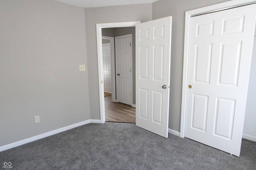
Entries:
[[[132,107],[132,60],[134,60],[132,58],[135,57],[135,55],[133,55],[135,51],[132,53],[133,36],[135,36],[135,27],[102,29],[106,121],[124,123],[136,122],[136,109]],[[110,38],[115,39],[115,43],[110,43]],[[109,43],[112,46],[111,48]],[[114,47],[116,48],[114,49]],[[116,51],[116,53],[111,53],[110,55],[109,51]],[[111,64],[109,64],[110,61]],[[107,70],[113,72],[111,76],[106,76]],[[116,72],[116,74],[114,72]],[[110,84],[108,82],[110,82],[111,79],[113,80],[111,81],[111,86],[114,86],[110,91],[108,90],[108,85]]]

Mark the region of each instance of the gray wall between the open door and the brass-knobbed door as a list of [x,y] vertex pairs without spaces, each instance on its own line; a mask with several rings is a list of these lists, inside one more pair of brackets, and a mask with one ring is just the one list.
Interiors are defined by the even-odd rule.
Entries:
[[172,16],[169,128],[180,132],[185,12],[228,0],[159,0],[152,3],[152,20]]

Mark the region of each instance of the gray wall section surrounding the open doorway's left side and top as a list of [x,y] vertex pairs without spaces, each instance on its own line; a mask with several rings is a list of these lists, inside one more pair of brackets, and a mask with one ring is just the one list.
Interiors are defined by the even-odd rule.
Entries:
[[85,8],[91,119],[100,119],[96,23],[152,20],[152,4]]

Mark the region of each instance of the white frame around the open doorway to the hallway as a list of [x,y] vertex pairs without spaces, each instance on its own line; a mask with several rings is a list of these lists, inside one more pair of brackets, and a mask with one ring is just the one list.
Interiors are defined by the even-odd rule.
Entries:
[[104,85],[103,85],[103,56],[102,56],[102,28],[113,27],[135,27],[140,21],[131,22],[115,22],[115,23],[97,23],[97,53],[98,53],[98,80],[99,80],[99,95],[100,95],[100,123],[105,122],[105,107],[104,107]]

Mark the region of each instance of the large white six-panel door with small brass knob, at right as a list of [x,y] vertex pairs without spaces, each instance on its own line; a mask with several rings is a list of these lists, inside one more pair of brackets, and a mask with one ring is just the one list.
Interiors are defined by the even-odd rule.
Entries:
[[240,155],[256,4],[190,19],[185,137]]

